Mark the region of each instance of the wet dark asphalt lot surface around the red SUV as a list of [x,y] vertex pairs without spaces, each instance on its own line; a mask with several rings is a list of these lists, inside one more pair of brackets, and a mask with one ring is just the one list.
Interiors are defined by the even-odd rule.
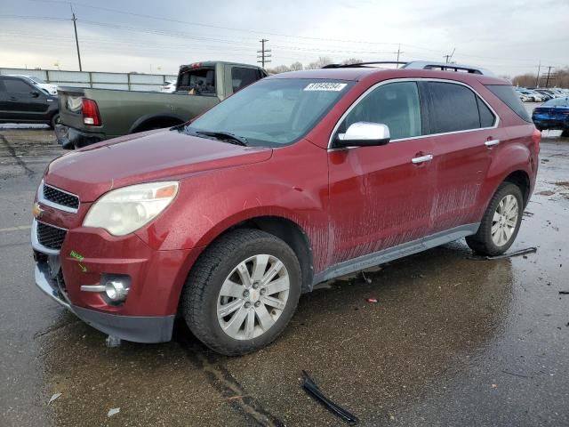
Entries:
[[544,133],[510,250],[535,254],[481,260],[458,241],[326,283],[271,346],[227,358],[182,324],[169,343],[108,348],[36,289],[31,204],[60,147],[47,129],[0,128],[0,425],[344,425],[302,391],[303,369],[360,425],[569,425],[569,139],[558,134]]

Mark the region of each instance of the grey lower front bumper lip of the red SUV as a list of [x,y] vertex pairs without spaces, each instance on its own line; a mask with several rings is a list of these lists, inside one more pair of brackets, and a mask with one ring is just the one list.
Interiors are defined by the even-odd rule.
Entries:
[[48,262],[36,262],[36,286],[55,302],[71,310],[87,325],[109,335],[132,342],[167,342],[172,339],[175,316],[119,316],[73,305],[57,279],[52,278]]

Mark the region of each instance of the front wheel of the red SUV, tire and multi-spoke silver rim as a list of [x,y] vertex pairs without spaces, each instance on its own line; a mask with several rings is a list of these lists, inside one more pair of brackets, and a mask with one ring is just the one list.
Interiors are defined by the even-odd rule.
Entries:
[[[273,292],[284,289],[287,280],[287,291]],[[182,291],[181,312],[201,342],[237,356],[273,342],[293,317],[300,296],[301,266],[293,249],[264,231],[239,229],[200,255]]]

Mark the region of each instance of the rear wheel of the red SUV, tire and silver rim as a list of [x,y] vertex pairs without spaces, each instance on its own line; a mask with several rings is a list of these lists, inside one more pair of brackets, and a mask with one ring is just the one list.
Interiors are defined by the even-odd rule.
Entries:
[[[508,210],[508,206],[514,205],[514,200],[516,204],[515,218],[513,215],[509,216],[507,213],[504,218],[494,216],[494,214],[501,215],[498,211],[499,206],[500,208],[505,206],[506,210]],[[512,207],[512,209],[513,208],[514,207]],[[516,184],[502,182],[486,209],[477,234],[467,237],[466,243],[470,249],[479,254],[495,256],[505,253],[509,249],[509,246],[512,246],[517,237],[517,232],[522,223],[523,213],[524,197],[522,197],[522,191]],[[508,220],[506,218],[508,218]],[[497,219],[500,221],[496,222]],[[515,225],[509,227],[509,223]],[[494,236],[493,227],[495,227],[494,230],[496,231]],[[505,237],[508,238],[506,239]]]

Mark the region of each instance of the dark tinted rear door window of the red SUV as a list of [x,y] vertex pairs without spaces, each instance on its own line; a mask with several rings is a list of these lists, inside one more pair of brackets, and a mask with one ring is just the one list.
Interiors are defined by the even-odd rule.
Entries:
[[480,127],[477,95],[468,87],[429,82],[431,133],[467,131]]

